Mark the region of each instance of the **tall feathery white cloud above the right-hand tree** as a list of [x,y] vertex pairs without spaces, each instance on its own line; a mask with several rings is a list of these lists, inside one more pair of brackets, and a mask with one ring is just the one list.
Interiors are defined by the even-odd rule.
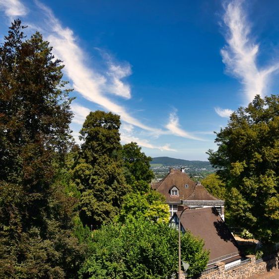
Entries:
[[252,101],[256,94],[265,95],[271,74],[279,69],[279,63],[259,69],[257,57],[259,44],[250,34],[250,23],[242,7],[242,0],[233,0],[225,5],[223,21],[227,27],[227,45],[221,50],[222,61],[227,71],[244,85],[245,98]]

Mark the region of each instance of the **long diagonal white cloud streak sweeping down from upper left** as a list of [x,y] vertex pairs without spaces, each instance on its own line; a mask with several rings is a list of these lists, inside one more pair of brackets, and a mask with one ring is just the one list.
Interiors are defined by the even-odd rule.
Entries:
[[[37,5],[45,12],[47,16],[46,23],[52,32],[47,40],[51,42],[54,47],[53,51],[56,57],[60,58],[65,64],[65,72],[73,82],[73,88],[79,92],[87,100],[94,102],[108,111],[119,114],[121,119],[127,123],[133,124],[146,131],[158,131],[147,125],[142,124],[138,119],[132,117],[124,107],[116,104],[104,96],[103,88],[108,88],[106,82],[108,77],[103,76],[91,68],[86,66],[86,56],[76,43],[76,39],[70,28],[63,28],[59,20],[53,15],[52,11],[36,1]],[[127,69],[119,66],[110,67],[110,74],[113,75],[115,81],[114,88],[117,88],[118,95],[120,95],[121,88],[123,88],[123,96],[128,96],[128,89],[121,85],[117,80],[128,75]],[[110,76],[111,77],[111,76]],[[109,84],[111,89],[111,84]],[[116,90],[115,90],[116,92]]]

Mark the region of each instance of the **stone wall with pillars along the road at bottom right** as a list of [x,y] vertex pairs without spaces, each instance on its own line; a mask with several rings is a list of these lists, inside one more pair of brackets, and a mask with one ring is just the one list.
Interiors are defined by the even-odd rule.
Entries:
[[256,256],[249,255],[247,261],[225,270],[225,263],[218,262],[208,273],[204,272],[198,279],[246,279],[254,275],[279,268],[279,253],[264,261],[256,261]]

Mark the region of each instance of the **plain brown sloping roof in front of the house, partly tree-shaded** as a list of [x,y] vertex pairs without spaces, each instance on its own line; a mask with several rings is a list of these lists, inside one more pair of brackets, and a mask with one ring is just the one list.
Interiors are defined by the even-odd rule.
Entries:
[[[176,214],[180,217],[181,211]],[[204,239],[205,249],[210,251],[209,264],[240,255],[236,240],[215,208],[186,209],[181,225]]]

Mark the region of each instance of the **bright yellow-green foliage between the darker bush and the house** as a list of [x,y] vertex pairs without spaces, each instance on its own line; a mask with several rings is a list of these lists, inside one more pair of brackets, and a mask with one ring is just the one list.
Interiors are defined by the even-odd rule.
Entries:
[[169,221],[169,207],[160,193],[150,190],[144,195],[132,193],[124,197],[117,220],[124,223],[127,220],[142,217],[150,221],[166,223]]

